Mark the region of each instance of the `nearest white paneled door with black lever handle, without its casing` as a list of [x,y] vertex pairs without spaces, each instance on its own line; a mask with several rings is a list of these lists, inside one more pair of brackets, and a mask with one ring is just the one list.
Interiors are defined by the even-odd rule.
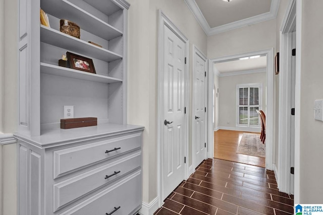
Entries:
[[185,43],[164,25],[163,200],[184,180]]

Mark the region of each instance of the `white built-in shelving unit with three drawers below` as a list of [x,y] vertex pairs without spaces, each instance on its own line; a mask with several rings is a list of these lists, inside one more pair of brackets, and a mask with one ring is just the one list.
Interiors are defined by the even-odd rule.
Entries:
[[[127,125],[125,0],[19,0],[19,214],[136,214],[142,126]],[[40,8],[50,27],[40,25]],[[81,37],[60,32],[60,19]],[[102,47],[93,45],[92,41]],[[95,72],[61,67],[66,52]],[[60,129],[64,105],[98,125]]]

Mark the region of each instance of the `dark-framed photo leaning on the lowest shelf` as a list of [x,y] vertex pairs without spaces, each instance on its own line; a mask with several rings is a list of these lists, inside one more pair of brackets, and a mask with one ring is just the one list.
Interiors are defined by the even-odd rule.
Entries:
[[92,59],[76,55],[69,51],[66,52],[66,56],[71,69],[96,74]]

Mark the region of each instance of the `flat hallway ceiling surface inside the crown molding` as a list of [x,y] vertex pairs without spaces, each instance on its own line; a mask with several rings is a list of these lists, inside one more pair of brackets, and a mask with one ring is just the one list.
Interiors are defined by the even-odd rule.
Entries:
[[210,28],[271,11],[272,0],[195,0]]

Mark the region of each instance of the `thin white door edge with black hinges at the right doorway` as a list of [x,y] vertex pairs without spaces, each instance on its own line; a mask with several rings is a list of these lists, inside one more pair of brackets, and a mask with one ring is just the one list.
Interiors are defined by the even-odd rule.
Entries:
[[[292,32],[292,48],[296,48],[296,31]],[[291,70],[291,108],[295,108],[295,56],[292,56]],[[291,116],[291,167],[294,167],[295,154],[295,116]],[[290,174],[290,193],[294,194],[294,174]]]

